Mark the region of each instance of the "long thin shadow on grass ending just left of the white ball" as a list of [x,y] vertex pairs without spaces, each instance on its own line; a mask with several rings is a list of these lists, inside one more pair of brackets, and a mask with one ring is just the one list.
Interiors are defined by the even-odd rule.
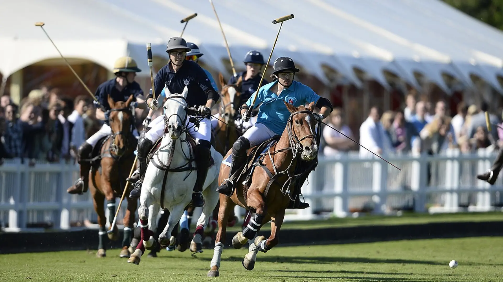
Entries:
[[[226,260],[242,261],[243,256],[229,256]],[[380,259],[370,257],[333,257],[333,256],[268,256],[260,255],[257,261],[276,262],[276,263],[334,263],[334,262],[356,262],[356,263],[414,263],[414,264],[430,264],[439,265],[443,262],[429,260],[414,260],[414,259]]]

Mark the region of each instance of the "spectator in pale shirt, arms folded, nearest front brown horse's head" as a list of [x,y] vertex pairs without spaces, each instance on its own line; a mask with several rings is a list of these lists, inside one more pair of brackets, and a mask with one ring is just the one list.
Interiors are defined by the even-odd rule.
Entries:
[[[329,115],[330,119],[328,124],[333,128],[341,131],[348,137],[353,137],[353,131],[348,125],[344,123],[343,111],[341,108],[334,108]],[[323,139],[325,140],[325,147],[323,148],[323,155],[334,156],[341,152],[348,152],[354,147],[353,141],[345,137],[343,134],[325,126],[323,128]]]

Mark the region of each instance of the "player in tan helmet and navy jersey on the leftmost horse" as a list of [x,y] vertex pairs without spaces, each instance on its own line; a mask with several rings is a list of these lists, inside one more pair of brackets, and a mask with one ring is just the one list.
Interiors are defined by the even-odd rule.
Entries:
[[103,82],[96,89],[95,96],[98,100],[97,102],[95,101],[97,104],[96,117],[104,120],[105,123],[98,132],[94,133],[78,148],[77,162],[80,165],[80,178],[75,181],[73,186],[66,190],[70,194],[83,194],[88,191],[89,170],[91,169],[89,159],[91,159],[93,148],[102,137],[106,137],[112,133],[109,122],[111,107],[108,104],[108,95],[115,102],[125,102],[129,96],[133,95],[138,103],[138,108],[146,108],[143,90],[141,90],[138,82],[134,81],[136,73],[141,70],[133,58],[121,57],[117,59],[113,71],[116,77]]

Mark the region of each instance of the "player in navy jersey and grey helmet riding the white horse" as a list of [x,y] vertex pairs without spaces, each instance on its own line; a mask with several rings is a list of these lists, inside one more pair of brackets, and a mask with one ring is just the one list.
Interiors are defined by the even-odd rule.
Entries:
[[[196,62],[186,60],[187,52],[191,50],[185,39],[181,37],[173,37],[168,41],[166,53],[170,56],[170,62],[157,72],[154,79],[154,88],[155,93],[161,93],[164,87],[168,87],[171,93],[182,93],[184,87],[187,86],[189,90],[187,103],[191,106],[196,105],[198,112],[205,116],[199,121],[197,131],[194,126],[189,126],[189,133],[196,140],[195,158],[197,166],[197,179],[192,194],[192,205],[202,207],[204,198],[201,191],[208,174],[211,159],[211,122],[209,116],[211,107],[220,98],[220,95],[215,91],[204,70]],[[159,106],[158,101],[151,94],[147,96],[147,105],[153,110],[156,110]],[[149,124],[149,127],[150,129],[145,135],[138,140],[140,179],[136,182],[135,188],[129,195],[133,199],[140,196],[141,185],[147,169],[147,155],[164,132],[164,116],[156,117]]]

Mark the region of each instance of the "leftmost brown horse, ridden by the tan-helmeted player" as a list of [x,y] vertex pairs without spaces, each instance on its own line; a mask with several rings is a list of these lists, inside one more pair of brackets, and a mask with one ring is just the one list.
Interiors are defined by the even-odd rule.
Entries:
[[[106,221],[104,209],[104,201],[107,200],[107,207],[109,211],[109,222],[112,224],[115,216],[115,198],[121,197],[124,186],[126,185],[126,178],[129,177],[131,167],[135,159],[134,149],[136,148],[137,140],[134,137],[131,127],[133,125],[133,113],[129,105],[133,100],[133,95],[129,96],[126,102],[115,102],[110,95],[108,96],[108,103],[112,108],[110,111],[110,128],[111,135],[108,135],[103,140],[100,140],[96,146],[93,156],[99,155],[93,163],[90,172],[89,187],[93,195],[94,208],[98,214],[98,224],[100,225],[99,232],[99,245],[98,257],[106,256]],[[101,157],[100,157],[101,156]],[[128,190],[131,186],[128,185]],[[129,192],[126,192],[129,193]],[[122,251],[120,257],[129,257],[130,253],[128,246],[131,243],[131,232],[133,223],[135,222],[135,212],[137,208],[137,201],[131,200],[126,197],[127,210],[124,215],[124,238],[122,242]],[[119,238],[117,225],[113,226],[113,232],[108,234],[111,240]]]

